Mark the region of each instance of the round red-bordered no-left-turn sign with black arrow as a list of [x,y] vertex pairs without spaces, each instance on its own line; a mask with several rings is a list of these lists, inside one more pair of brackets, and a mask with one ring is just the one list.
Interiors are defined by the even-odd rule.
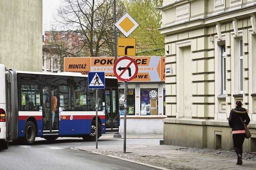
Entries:
[[114,74],[122,81],[132,80],[138,73],[138,65],[130,57],[121,57],[114,64]]

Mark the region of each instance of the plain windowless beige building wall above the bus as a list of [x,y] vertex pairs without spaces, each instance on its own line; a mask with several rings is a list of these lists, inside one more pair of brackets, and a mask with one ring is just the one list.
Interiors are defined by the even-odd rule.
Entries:
[[0,11],[0,63],[42,72],[42,0],[1,0]]

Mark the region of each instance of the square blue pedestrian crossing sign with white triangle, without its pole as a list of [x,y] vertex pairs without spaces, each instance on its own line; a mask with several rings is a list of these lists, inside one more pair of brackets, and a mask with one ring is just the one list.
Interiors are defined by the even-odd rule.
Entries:
[[88,72],[88,88],[105,88],[105,72]]

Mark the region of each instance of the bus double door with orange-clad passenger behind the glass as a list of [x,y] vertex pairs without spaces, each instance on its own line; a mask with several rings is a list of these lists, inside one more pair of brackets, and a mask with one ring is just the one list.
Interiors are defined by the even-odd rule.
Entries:
[[42,86],[43,135],[59,134],[58,87]]

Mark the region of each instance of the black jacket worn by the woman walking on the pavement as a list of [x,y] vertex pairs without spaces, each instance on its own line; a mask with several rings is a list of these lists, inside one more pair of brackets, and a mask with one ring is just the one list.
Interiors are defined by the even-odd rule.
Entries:
[[250,122],[250,117],[248,116],[247,110],[243,107],[236,107],[230,111],[228,123],[232,128],[232,131],[244,130],[244,125],[241,122],[239,116],[248,125]]

